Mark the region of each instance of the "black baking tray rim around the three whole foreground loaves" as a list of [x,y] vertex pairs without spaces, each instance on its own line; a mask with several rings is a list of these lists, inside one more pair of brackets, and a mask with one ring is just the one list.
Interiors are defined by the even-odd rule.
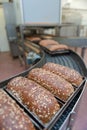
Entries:
[[[83,82],[81,83],[80,86],[78,86],[77,88],[75,88],[74,93],[70,96],[70,98],[64,102],[58,98],[57,101],[59,102],[61,108],[60,110],[53,116],[53,118],[46,124],[43,124],[41,122],[41,120],[39,120],[39,118],[33,113],[31,112],[25,105],[22,104],[21,101],[19,101],[17,99],[17,97],[14,96],[13,93],[11,93],[6,87],[4,87],[4,90],[20,105],[20,107],[22,107],[27,114],[35,121],[35,123],[37,124],[37,126],[39,125],[40,130],[51,130],[51,128],[54,126],[54,124],[56,123],[56,121],[58,121],[59,117],[62,115],[62,113],[65,111],[65,109],[69,106],[69,104],[72,102],[72,100],[74,99],[74,97],[78,94],[78,92],[83,89],[85,84],[85,79],[83,80]],[[38,129],[39,129],[38,128]]]

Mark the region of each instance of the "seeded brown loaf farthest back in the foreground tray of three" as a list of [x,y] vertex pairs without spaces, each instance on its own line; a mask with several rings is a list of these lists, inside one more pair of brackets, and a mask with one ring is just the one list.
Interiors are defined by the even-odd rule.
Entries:
[[62,78],[66,79],[68,82],[76,86],[79,86],[83,81],[83,78],[79,72],[63,65],[48,62],[43,66],[43,69],[61,76]]

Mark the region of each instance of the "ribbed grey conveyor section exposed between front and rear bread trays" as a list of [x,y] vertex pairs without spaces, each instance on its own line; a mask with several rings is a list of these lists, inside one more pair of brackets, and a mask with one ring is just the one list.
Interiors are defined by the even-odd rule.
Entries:
[[45,53],[45,55],[46,62],[53,62],[67,66],[69,68],[77,70],[83,77],[87,77],[87,68],[83,62],[83,59],[74,51],[70,50],[69,53],[60,55],[50,55],[48,53]]

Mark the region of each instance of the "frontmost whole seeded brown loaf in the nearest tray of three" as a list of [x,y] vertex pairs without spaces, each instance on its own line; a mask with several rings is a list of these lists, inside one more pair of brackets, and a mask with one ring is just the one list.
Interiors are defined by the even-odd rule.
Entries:
[[7,89],[43,122],[48,123],[60,109],[55,97],[39,84],[24,77],[12,79]]

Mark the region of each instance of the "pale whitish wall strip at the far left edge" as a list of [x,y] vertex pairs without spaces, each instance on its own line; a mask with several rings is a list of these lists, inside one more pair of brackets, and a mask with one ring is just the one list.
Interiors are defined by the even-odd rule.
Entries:
[[9,51],[9,44],[5,30],[5,18],[3,8],[0,6],[0,51]]

